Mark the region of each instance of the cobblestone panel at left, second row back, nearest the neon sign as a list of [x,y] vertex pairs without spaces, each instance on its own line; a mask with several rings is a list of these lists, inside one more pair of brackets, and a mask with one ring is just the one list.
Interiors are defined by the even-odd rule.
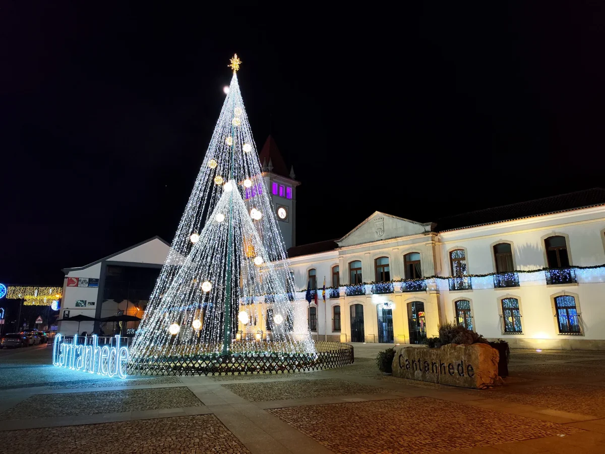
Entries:
[[0,419],[95,415],[197,406],[201,406],[200,400],[187,387],[61,393],[33,395],[6,410],[0,415]]

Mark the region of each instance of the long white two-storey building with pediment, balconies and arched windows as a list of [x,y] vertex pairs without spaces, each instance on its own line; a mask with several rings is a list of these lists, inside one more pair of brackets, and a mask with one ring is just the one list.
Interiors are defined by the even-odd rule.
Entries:
[[603,189],[439,223],[374,212],[289,254],[296,299],[319,289],[307,310],[319,340],[419,343],[453,322],[517,348],[605,347]]

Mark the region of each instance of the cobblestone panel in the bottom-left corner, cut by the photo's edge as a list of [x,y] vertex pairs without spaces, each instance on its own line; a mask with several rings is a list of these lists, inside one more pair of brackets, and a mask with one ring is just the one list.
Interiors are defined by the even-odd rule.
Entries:
[[214,415],[199,415],[0,432],[0,452],[235,454],[249,450]]

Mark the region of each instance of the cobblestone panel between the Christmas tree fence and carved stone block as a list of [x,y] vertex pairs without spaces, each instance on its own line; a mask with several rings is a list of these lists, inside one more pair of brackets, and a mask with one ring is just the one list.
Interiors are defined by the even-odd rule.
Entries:
[[223,386],[250,402],[389,392],[388,389],[336,378],[273,381],[271,383],[236,383],[224,384]]

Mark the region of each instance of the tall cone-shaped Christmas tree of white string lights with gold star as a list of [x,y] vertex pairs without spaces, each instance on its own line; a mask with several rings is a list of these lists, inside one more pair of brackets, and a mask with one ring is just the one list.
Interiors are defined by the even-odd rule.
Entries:
[[131,372],[284,370],[284,361],[315,359],[306,301],[294,298],[241,98],[240,64],[236,54],[203,165],[131,347]]

